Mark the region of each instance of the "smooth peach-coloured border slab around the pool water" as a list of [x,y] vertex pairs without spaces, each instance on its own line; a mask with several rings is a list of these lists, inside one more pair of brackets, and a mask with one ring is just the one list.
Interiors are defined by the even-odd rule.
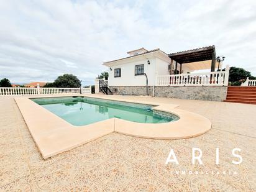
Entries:
[[[74,99],[76,98],[78,97],[75,96]],[[99,99],[101,96],[95,94],[87,94],[86,98],[103,100]],[[136,102],[130,99],[117,98],[114,101],[120,100]],[[15,101],[37,148],[45,160],[112,132],[145,139],[185,139],[204,134],[211,129],[211,122],[206,117],[194,112],[175,109],[178,105],[173,104],[139,101],[139,103],[152,104],[155,106],[152,109],[160,110],[160,112],[170,112],[180,118],[173,122],[148,124],[114,117],[85,126],[73,126],[29,98],[19,97],[15,98]],[[104,101],[111,102],[113,100],[109,98],[104,99]],[[119,114],[116,114],[116,116],[119,116]],[[91,117],[87,116],[85,118]]]

